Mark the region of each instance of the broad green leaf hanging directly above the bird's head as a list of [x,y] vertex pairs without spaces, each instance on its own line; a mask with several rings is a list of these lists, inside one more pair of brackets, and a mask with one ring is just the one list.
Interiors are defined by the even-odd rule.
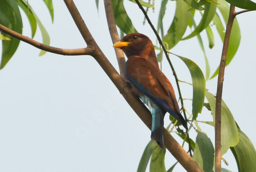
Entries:
[[112,1],[114,16],[116,20],[116,25],[125,33],[130,34],[137,32],[132,25],[131,19],[128,17],[125,9],[123,0],[113,0]]

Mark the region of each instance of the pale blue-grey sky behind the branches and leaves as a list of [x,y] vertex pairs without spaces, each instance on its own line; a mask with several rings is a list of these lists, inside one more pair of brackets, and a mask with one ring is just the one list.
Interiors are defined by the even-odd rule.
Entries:
[[[103,0],[99,2],[99,12],[94,0],[74,2],[99,47],[119,71]],[[51,46],[68,49],[85,47],[63,1],[53,1],[54,24],[43,1],[29,3],[48,31]],[[138,6],[127,0],[124,0],[124,4],[137,31],[156,43],[156,37],[147,22],[142,26],[144,17]],[[155,1],[155,12],[152,9],[148,12],[155,26],[159,8],[160,3]],[[175,2],[168,1],[164,17],[165,32],[172,22],[174,11]],[[240,9],[236,8],[236,11]],[[23,35],[31,37],[30,26],[22,10],[21,15]],[[237,16],[242,38],[236,56],[225,70],[223,87],[223,100],[254,146],[255,18],[254,11]],[[201,34],[211,75],[220,63],[222,50],[220,36],[215,26],[212,28],[215,38],[213,49],[208,48],[205,31]],[[185,35],[188,34],[189,29]],[[42,42],[39,30],[34,39]],[[20,42],[12,59],[0,71],[0,171],[136,171],[150,140],[150,131],[93,57],[52,53],[38,57],[39,52],[39,49]],[[193,60],[205,73],[204,56],[196,37],[180,41],[172,52]],[[178,78],[192,82],[186,65],[175,56],[171,56],[171,61]],[[163,72],[173,83],[178,99],[177,86],[165,58]],[[180,86],[183,98],[192,98],[192,87],[183,83]],[[206,82],[206,88],[213,94],[216,93],[216,87],[217,77]],[[191,112],[191,102],[185,103]],[[168,116],[165,117],[165,126],[170,123]],[[198,120],[212,121],[212,116],[204,108]],[[201,123],[200,127],[214,144],[214,128]],[[176,134],[172,136],[182,143]],[[196,132],[193,131],[190,137],[195,140]],[[229,166],[223,164],[223,168],[237,171],[231,151],[224,158]],[[167,151],[166,169],[175,162]],[[185,170],[177,165],[174,171]]]

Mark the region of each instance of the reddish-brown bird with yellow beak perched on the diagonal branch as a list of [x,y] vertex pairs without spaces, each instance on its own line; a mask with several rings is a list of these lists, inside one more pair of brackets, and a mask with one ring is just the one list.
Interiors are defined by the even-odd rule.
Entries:
[[128,60],[125,73],[132,93],[148,106],[152,114],[151,139],[164,148],[164,115],[170,113],[186,129],[171,82],[160,70],[152,41],[144,34],[125,35],[113,47],[122,49]]

